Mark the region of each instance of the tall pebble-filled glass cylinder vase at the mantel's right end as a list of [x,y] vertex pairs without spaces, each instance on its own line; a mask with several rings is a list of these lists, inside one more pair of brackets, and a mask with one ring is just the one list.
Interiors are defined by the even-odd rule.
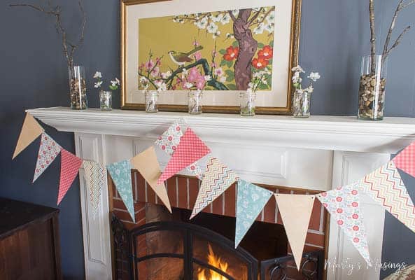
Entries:
[[384,119],[387,64],[387,58],[383,55],[362,58],[358,119]]

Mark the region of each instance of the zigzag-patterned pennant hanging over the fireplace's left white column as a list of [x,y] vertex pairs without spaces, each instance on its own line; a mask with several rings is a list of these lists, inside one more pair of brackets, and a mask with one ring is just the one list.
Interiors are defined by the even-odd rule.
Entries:
[[101,190],[106,186],[106,168],[99,162],[84,160],[83,169],[87,188],[90,191],[92,217],[95,219],[101,202]]

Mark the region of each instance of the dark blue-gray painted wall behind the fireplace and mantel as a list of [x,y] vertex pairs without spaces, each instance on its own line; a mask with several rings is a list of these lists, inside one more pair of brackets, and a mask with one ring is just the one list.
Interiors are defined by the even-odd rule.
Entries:
[[[40,1],[45,3],[47,1]],[[360,57],[369,51],[367,1],[304,0],[300,64],[320,71],[311,113],[315,115],[355,115]],[[378,48],[383,45],[398,0],[377,0]],[[0,90],[1,90],[1,158],[0,196],[54,207],[59,181],[59,158],[31,184],[38,141],[11,161],[15,142],[24,118],[24,109],[68,106],[68,76],[60,37],[53,19],[27,8],[0,7]],[[38,3],[38,1],[30,1]],[[64,26],[69,36],[77,34],[80,16],[76,0],[60,0]],[[78,50],[76,63],[83,64],[87,77],[96,69],[106,77],[119,76],[119,2],[85,0],[87,28],[85,44]],[[415,5],[402,11],[396,32],[415,24]],[[415,116],[415,30],[409,31],[402,44],[393,51],[388,66],[386,116]],[[89,84],[91,107],[98,106],[97,90]],[[120,98],[115,97],[115,108]],[[73,151],[73,135],[47,132],[59,144]],[[403,176],[415,198],[415,181]],[[83,244],[80,221],[78,181],[59,205],[62,238],[62,265],[65,279],[83,279]],[[415,235],[386,214],[383,261],[415,263],[411,248]],[[382,272],[386,275],[386,272]]]

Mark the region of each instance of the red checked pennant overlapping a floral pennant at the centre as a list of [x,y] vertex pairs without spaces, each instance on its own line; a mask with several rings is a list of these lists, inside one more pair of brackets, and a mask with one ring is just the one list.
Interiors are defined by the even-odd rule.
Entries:
[[164,168],[162,176],[157,180],[157,184],[166,181],[210,152],[211,150],[197,137],[195,132],[188,128],[183,137],[181,137],[180,143],[167,163],[166,168]]

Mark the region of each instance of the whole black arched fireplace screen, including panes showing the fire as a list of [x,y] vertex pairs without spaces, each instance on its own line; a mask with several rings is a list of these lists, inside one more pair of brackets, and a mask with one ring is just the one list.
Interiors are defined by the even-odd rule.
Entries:
[[[113,216],[115,279],[286,279],[292,255],[258,260],[234,242],[199,225],[148,223],[126,230]],[[258,244],[267,246],[267,244]],[[323,252],[305,253],[302,279],[323,279]]]

